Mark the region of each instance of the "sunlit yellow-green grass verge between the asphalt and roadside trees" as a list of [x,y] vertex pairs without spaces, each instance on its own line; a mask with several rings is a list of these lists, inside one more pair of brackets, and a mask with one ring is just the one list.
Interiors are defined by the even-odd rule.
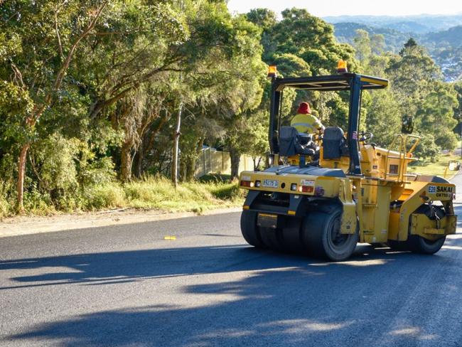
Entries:
[[[1,187],[0,187],[1,192]],[[15,214],[14,198],[0,194],[0,219]],[[122,184],[104,183],[75,191],[52,201],[50,196],[33,191],[24,196],[24,207],[29,215],[80,213],[111,208],[136,208],[165,212],[195,212],[242,205],[245,193],[229,178],[210,176],[202,181],[185,182],[175,188],[171,181],[149,176]]]

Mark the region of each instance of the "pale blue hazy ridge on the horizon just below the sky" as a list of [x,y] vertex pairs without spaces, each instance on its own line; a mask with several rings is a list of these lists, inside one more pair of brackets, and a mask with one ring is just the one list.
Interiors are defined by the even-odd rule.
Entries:
[[360,23],[410,33],[430,33],[462,25],[462,14],[419,16],[328,16],[328,23]]

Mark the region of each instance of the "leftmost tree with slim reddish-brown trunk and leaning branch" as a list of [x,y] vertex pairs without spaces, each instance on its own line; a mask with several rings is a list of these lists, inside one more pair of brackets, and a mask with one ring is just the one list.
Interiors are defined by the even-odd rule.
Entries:
[[[43,113],[61,92],[65,75],[83,39],[92,33],[107,1],[9,1],[3,5],[0,29],[11,37],[21,36],[21,47],[9,55],[9,69],[1,78],[28,93],[33,103],[23,114],[26,138],[18,154],[17,207],[23,210],[26,156],[33,132]],[[37,25],[40,23],[40,25]]]

